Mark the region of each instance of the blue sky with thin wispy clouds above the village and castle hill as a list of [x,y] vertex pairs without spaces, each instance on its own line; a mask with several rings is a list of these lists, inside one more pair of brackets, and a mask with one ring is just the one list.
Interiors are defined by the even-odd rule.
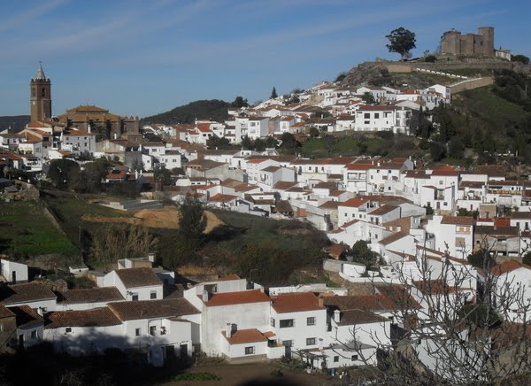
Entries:
[[396,27],[435,50],[450,28],[496,28],[531,55],[531,2],[358,0],[0,0],[0,115],[27,114],[42,60],[53,112],[97,104],[147,116],[196,99],[250,102],[307,88],[374,58]]

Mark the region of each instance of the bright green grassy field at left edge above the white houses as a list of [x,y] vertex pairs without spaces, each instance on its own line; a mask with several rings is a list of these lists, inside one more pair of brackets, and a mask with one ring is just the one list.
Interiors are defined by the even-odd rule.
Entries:
[[77,251],[35,201],[0,202],[0,252],[19,257]]

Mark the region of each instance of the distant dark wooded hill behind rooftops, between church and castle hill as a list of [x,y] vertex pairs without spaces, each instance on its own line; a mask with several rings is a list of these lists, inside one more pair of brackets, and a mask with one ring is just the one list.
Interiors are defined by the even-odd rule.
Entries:
[[200,100],[175,107],[169,112],[161,112],[157,115],[145,117],[140,120],[141,125],[150,123],[165,123],[172,125],[175,123],[194,123],[196,119],[211,119],[218,122],[227,120],[227,109],[230,104],[219,100]]

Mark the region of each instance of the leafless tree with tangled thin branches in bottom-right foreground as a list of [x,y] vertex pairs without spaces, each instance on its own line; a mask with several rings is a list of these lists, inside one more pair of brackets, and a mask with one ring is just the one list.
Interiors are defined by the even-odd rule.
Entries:
[[[367,339],[363,325],[354,326],[349,342],[338,341],[342,352],[355,352],[378,384],[519,384],[531,365],[527,282],[491,266],[489,250],[482,269],[419,251],[395,264],[392,282],[404,290],[388,306],[386,335],[370,332]],[[381,294],[389,287],[373,286]]]

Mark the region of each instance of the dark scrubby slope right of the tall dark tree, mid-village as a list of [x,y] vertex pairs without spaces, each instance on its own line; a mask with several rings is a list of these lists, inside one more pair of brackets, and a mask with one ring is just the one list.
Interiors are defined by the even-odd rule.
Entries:
[[234,232],[205,246],[204,255],[209,256],[212,266],[245,277],[252,271],[253,280],[264,285],[324,280],[319,275],[324,257],[321,249],[327,243],[323,232],[296,220],[214,212]]

